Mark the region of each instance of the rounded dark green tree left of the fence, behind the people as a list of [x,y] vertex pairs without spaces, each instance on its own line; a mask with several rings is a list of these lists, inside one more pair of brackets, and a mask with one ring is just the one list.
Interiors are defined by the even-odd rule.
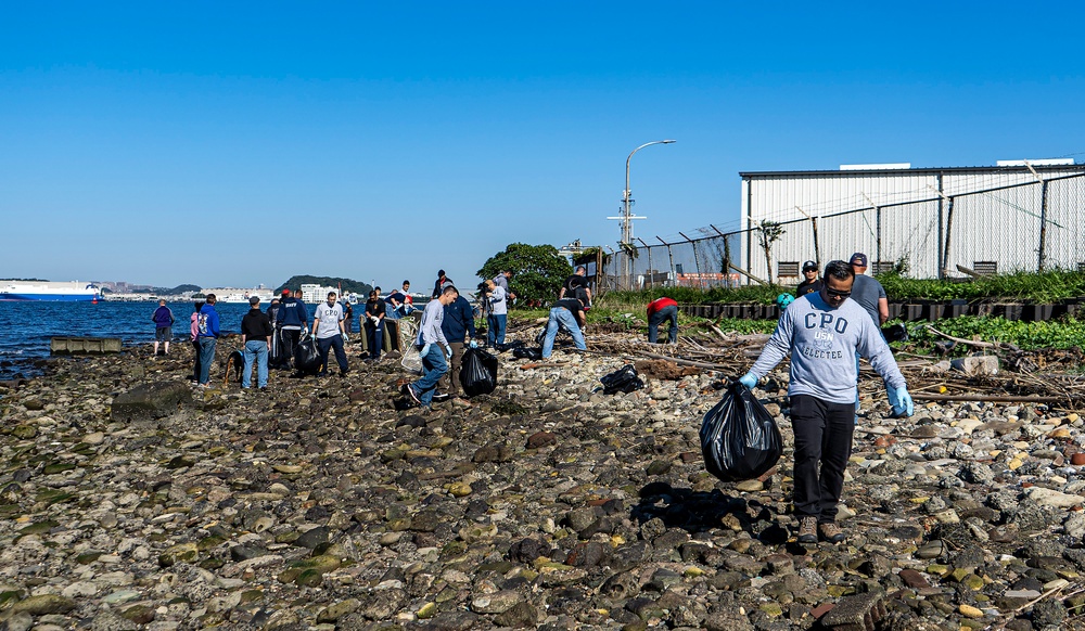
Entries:
[[523,300],[553,300],[573,267],[552,245],[511,243],[486,260],[475,272],[480,279],[493,279],[502,270],[512,272],[509,289]]

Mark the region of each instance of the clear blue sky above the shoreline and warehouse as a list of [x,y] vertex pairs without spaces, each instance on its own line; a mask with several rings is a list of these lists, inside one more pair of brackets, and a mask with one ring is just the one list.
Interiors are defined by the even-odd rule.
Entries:
[[460,284],[740,170],[1085,162],[1085,5],[7,3],[0,276]]

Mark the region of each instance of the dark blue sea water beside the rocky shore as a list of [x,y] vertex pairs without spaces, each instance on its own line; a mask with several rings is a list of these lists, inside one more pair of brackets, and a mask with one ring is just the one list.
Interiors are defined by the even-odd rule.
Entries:
[[[174,311],[174,342],[189,339],[189,318],[193,302],[169,302]],[[307,305],[309,321],[316,305]],[[266,305],[260,305],[265,310]],[[360,308],[359,308],[360,307]],[[41,374],[35,360],[49,357],[52,337],[119,337],[125,347],[154,342],[151,314],[157,302],[8,302],[0,301],[0,379]],[[247,304],[226,305],[218,310],[224,332],[240,333]],[[363,306],[354,308],[354,331]]]

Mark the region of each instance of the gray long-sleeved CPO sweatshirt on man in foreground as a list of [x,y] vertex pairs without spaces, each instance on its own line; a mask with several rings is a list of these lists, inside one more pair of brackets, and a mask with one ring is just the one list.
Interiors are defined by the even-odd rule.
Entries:
[[791,353],[788,395],[810,395],[833,403],[855,401],[855,352],[894,388],[906,383],[870,316],[851,298],[833,309],[821,294],[807,294],[780,317],[773,337],[750,369],[760,379]]

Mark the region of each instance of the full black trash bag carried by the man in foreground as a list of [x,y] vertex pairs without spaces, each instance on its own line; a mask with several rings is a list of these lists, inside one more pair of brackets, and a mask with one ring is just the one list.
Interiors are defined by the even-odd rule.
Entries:
[[749,480],[776,466],[783,437],[768,410],[742,384],[709,410],[701,423],[701,455],[709,473],[732,482]]

